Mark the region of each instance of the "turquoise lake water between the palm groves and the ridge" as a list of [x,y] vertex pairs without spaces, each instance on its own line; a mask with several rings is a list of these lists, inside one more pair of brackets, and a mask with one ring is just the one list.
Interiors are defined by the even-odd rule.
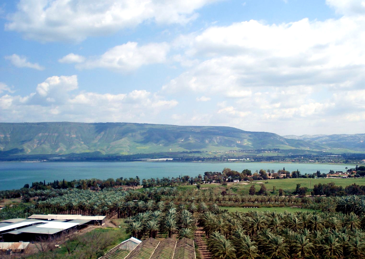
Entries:
[[328,173],[330,170],[345,171],[345,167],[353,165],[328,164],[287,164],[287,163],[201,163],[201,162],[0,162],[0,190],[22,188],[24,184],[32,184],[45,180],[78,180],[78,179],[108,179],[108,178],[162,178],[178,177],[179,175],[204,175],[206,171],[222,171],[224,167],[242,172],[256,170],[283,169],[299,170],[301,174],[313,174],[317,170]]

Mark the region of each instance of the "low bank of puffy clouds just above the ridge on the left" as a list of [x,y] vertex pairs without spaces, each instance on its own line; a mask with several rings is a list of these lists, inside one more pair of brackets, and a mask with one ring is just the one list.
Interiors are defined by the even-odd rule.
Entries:
[[153,123],[177,104],[177,100],[146,90],[120,94],[80,91],[76,75],[52,76],[27,96],[1,96],[0,120]]

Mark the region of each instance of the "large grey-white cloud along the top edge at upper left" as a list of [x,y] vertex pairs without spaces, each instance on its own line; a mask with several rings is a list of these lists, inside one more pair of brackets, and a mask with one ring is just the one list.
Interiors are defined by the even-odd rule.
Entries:
[[20,0],[16,12],[7,16],[5,30],[41,42],[81,42],[143,22],[186,24],[197,18],[197,9],[215,1]]

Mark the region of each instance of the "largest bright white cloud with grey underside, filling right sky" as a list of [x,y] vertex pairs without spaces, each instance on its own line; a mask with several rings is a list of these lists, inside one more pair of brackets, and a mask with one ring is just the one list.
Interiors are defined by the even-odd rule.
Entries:
[[164,89],[233,96],[260,86],[358,83],[365,79],[364,31],[364,17],[210,27],[181,45],[188,56],[205,58]]

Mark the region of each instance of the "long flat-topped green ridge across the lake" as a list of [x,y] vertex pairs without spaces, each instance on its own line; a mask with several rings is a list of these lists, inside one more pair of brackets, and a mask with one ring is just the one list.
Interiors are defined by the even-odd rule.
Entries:
[[317,141],[233,127],[139,123],[0,123],[0,154],[139,154],[250,149],[322,150]]

